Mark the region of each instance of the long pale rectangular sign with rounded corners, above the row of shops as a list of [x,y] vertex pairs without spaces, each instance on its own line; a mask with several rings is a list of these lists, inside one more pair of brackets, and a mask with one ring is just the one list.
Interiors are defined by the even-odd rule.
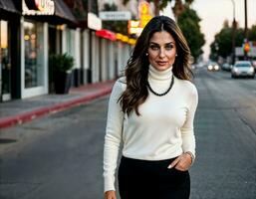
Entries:
[[103,21],[128,21],[131,19],[131,14],[128,11],[102,11],[99,16]]

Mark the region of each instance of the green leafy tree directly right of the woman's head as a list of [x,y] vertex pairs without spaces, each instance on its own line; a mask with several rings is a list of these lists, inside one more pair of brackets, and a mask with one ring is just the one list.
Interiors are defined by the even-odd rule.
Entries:
[[198,17],[193,9],[188,5],[184,6],[184,11],[178,17],[178,25],[187,40],[188,46],[194,60],[203,53],[202,46],[205,43],[204,35],[200,31],[199,22],[201,19]]

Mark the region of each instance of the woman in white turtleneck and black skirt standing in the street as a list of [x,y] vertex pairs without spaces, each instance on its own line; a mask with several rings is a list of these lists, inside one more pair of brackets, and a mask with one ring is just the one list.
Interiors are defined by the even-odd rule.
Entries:
[[187,199],[195,158],[197,90],[190,50],[175,22],[152,18],[137,38],[125,77],[109,102],[104,151],[105,199]]

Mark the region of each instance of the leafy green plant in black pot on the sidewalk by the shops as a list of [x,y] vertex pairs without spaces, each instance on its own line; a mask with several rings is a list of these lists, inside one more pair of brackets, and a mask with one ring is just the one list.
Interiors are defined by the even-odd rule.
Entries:
[[51,55],[49,65],[53,71],[55,93],[69,94],[74,58],[67,53]]

